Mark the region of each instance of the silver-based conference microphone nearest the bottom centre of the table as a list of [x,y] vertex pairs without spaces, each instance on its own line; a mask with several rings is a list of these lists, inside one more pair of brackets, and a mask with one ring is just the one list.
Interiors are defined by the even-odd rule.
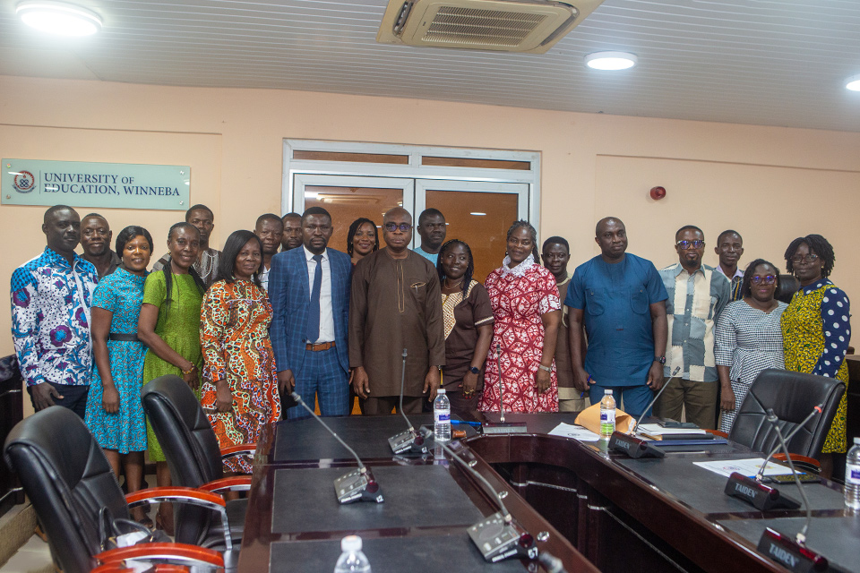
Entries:
[[504,507],[502,496],[499,492],[495,491],[495,488],[486,480],[486,477],[480,475],[477,470],[469,466],[469,462],[460,458],[443,441],[436,440],[435,443],[448,452],[449,456],[457,460],[460,466],[463,466],[469,474],[477,478],[478,482],[483,485],[485,491],[490,494],[490,497],[493,498],[496,506],[499,508],[499,511],[493,515],[481,519],[477,524],[466,529],[469,538],[472,540],[472,543],[475,543],[477,550],[481,552],[484,559],[491,563],[511,558],[538,559],[538,548],[535,546],[535,538],[525,529],[514,523],[511,512]]

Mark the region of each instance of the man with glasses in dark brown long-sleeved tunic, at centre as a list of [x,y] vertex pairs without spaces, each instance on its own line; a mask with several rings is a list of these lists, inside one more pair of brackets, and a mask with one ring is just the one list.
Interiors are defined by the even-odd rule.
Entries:
[[[442,294],[434,265],[409,251],[412,216],[395,207],[383,216],[384,249],[356,264],[349,304],[349,365],[365,415],[387,415],[398,406],[403,349],[403,410],[421,411],[439,388],[445,364]],[[399,406],[398,406],[399,407]]]

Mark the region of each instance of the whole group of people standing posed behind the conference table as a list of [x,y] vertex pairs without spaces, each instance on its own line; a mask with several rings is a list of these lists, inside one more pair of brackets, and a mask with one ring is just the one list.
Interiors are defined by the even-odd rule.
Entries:
[[[141,406],[142,384],[181,377],[200,399],[221,447],[253,442],[262,425],[306,415],[429,409],[444,388],[454,414],[578,411],[612,390],[641,415],[728,430],[755,377],[786,368],[847,383],[847,295],[828,276],[835,256],[821,235],[787,249],[800,283],[778,302],[779,272],[761,259],[738,268],[741,235],[726,231],[717,268],[702,264],[699,227],[675,235],[678,262],[658,270],[627,250],[624,223],[598,221],[600,254],[572,276],[568,242],[538,250],[527,221],[508,229],[502,265],[482,285],[469,244],[448,234],[443,213],[421,213],[420,247],[400,207],[382,225],[359,218],[346,251],[329,246],[320,207],[265,214],[254,231],[211,247],[214,215],[194,205],[170,227],[168,252],[142,227],[116,235],[96,213],[57,205],[45,213],[47,247],[12,277],[12,329],[33,406],[81,415],[129,492],[142,483],[143,452],[159,485],[170,476]],[[380,230],[385,246],[380,247]],[[78,244],[83,254],[75,252]],[[541,255],[543,259],[541,259]],[[543,265],[541,265],[543,261]],[[401,378],[401,372],[405,375]],[[825,443],[846,450],[845,399]],[[225,462],[248,472],[244,458]],[[167,508],[167,504],[165,508]],[[169,509],[159,525],[169,529]],[[135,517],[146,522],[139,512]]]

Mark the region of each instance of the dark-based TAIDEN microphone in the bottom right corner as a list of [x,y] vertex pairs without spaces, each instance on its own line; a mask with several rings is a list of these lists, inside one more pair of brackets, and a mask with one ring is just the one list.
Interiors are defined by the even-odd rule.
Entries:
[[795,464],[791,461],[791,454],[788,451],[786,440],[782,437],[778,420],[777,415],[773,413],[773,409],[768,408],[768,422],[773,426],[774,431],[777,432],[780,449],[786,454],[791,475],[794,476],[797,489],[800,490],[800,497],[804,500],[806,520],[803,528],[795,536],[795,539],[791,539],[789,535],[779,533],[776,529],[765,528],[759,540],[758,550],[770,557],[771,560],[775,560],[783,567],[797,573],[801,571],[827,571],[829,570],[827,559],[820,553],[806,547],[806,532],[813,521],[813,509],[809,505],[804,485],[800,483],[800,477],[797,475]]

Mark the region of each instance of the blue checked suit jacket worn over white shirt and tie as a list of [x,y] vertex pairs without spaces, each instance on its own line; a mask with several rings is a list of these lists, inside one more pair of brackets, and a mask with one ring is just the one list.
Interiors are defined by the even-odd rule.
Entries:
[[[344,372],[349,372],[348,320],[352,261],[346,252],[326,249],[331,269],[331,306],[334,342]],[[305,362],[305,327],[311,302],[311,285],[305,249],[297,247],[271,258],[269,300],[272,317],[269,334],[278,372],[298,377]]]

